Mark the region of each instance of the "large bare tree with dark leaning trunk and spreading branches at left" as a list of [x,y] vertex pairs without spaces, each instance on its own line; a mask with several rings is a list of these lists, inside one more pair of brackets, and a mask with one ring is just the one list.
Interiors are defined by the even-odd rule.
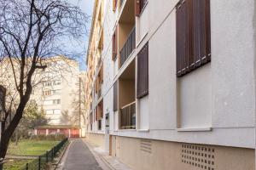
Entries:
[[0,62],[9,65],[14,80],[14,86],[5,88],[15,89],[7,93],[11,97],[3,116],[0,158],[5,157],[9,139],[38,83],[33,82],[37,71],[44,71],[44,60],[50,56],[67,55],[62,39],[84,37],[87,20],[86,14],[66,0],[0,0]]

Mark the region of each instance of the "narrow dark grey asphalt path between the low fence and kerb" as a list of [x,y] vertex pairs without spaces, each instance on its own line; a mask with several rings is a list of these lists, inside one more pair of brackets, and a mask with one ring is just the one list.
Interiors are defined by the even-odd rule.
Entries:
[[82,139],[72,141],[64,159],[62,170],[102,170]]

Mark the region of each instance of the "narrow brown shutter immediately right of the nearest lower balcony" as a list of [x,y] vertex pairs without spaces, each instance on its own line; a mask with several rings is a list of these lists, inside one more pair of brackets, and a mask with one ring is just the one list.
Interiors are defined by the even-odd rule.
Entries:
[[148,42],[137,54],[137,99],[148,95]]

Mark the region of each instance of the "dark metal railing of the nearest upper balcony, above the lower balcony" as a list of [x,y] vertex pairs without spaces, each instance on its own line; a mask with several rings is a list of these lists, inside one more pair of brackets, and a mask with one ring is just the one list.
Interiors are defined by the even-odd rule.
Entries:
[[126,59],[130,56],[131,52],[135,48],[135,27],[132,28],[131,33],[129,34],[125,45],[120,50],[120,64],[124,65]]

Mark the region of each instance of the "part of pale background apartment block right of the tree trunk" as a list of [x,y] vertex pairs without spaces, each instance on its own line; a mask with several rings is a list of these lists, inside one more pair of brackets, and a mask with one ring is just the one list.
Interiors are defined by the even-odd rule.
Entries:
[[33,91],[32,99],[43,108],[50,125],[73,125],[75,120],[69,119],[76,111],[73,102],[79,102],[79,63],[56,57],[47,65],[44,80]]

